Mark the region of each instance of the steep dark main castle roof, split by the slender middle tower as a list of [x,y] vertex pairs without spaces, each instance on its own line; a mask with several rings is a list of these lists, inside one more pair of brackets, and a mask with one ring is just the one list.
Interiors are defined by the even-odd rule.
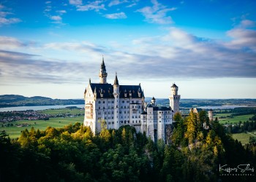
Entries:
[[[114,98],[112,84],[91,83],[91,90],[97,94],[97,98]],[[119,85],[119,98],[143,98],[144,94],[140,85]]]

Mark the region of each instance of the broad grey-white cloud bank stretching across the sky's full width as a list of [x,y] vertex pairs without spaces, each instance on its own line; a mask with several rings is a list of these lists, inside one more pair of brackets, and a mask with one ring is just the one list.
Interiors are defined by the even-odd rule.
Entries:
[[[102,54],[108,73],[118,71],[124,78],[256,78],[256,31],[238,26],[227,31],[227,36],[230,41],[217,41],[170,28],[164,36],[142,37],[108,47],[89,41],[27,44],[12,37],[0,37],[0,79],[38,79],[45,83],[97,79],[95,72]],[[22,47],[26,51],[37,50],[37,54],[17,51]],[[56,58],[45,58],[44,52],[48,51],[54,52]]]

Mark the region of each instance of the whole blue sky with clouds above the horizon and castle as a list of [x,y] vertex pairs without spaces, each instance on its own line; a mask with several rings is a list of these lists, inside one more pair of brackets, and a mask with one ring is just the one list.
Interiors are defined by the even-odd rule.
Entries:
[[83,98],[102,56],[146,97],[256,98],[256,1],[0,1],[0,95]]

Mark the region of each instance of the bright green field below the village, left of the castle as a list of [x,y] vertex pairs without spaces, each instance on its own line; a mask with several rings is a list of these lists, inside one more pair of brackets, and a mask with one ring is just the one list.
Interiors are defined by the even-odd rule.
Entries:
[[[48,121],[44,120],[21,120],[16,122],[10,122],[14,126],[12,127],[0,127],[0,130],[5,130],[7,134],[10,136],[10,138],[18,138],[20,137],[20,132],[22,130],[28,129],[30,130],[31,127],[34,127],[35,130],[45,130],[46,127],[64,127],[68,124],[75,124],[75,122],[83,123],[83,115],[82,116],[76,116],[76,117],[66,117],[66,118],[50,118]],[[15,124],[29,124],[27,127],[17,127]]]

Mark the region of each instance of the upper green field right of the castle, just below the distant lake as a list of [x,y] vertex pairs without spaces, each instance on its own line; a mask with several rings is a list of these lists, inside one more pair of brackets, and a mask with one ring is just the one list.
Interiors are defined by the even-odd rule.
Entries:
[[[230,116],[230,114],[216,114],[214,115],[214,118],[219,117],[220,116]],[[234,116],[233,118],[225,118],[225,119],[219,119],[219,123],[225,124],[227,123],[234,123],[234,122],[246,122],[249,121],[249,118],[252,118],[252,116],[254,116],[253,114],[248,114],[248,115],[241,115],[241,116]]]

